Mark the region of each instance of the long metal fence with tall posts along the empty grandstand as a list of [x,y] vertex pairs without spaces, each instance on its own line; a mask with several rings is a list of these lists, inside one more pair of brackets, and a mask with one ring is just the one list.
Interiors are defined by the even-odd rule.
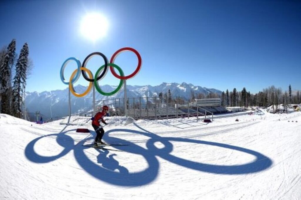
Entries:
[[[95,111],[101,110],[103,105],[109,106],[110,115],[124,115],[124,99],[106,99],[101,101],[96,101],[97,105]],[[199,117],[205,116],[207,118],[208,114],[212,115],[206,109],[196,106],[186,100],[177,98],[172,100],[171,98],[160,98],[160,97],[134,97],[127,98],[127,115],[135,118],[147,118],[147,119],[165,119],[165,118],[179,118],[179,117]]]

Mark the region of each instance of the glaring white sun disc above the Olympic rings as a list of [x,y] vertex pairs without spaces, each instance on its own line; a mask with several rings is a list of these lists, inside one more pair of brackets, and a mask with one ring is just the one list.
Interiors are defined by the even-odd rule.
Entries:
[[96,41],[103,38],[108,29],[107,19],[99,13],[89,13],[81,21],[80,31],[85,38]]

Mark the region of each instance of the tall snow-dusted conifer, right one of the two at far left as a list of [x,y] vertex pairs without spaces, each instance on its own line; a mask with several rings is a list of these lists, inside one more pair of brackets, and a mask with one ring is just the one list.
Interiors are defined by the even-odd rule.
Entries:
[[16,75],[14,77],[13,85],[13,115],[15,117],[21,117],[22,109],[22,92],[23,87],[26,85],[26,70],[28,64],[28,45],[25,43],[21,49],[20,56],[16,64]]

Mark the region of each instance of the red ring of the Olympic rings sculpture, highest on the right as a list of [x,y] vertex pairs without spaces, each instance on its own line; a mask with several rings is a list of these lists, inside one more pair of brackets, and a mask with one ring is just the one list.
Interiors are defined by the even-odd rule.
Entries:
[[136,70],[135,70],[132,74],[130,74],[130,75],[128,75],[128,76],[119,76],[119,75],[115,72],[114,68],[113,68],[112,66],[110,66],[110,70],[111,70],[112,74],[113,74],[116,78],[119,78],[119,79],[123,79],[123,80],[124,80],[124,79],[129,79],[129,78],[134,77],[134,76],[139,72],[139,70],[141,69],[141,63],[142,63],[142,61],[141,61],[141,56],[140,56],[140,54],[138,53],[138,51],[136,51],[135,49],[130,48],[130,47],[124,47],[124,48],[119,49],[118,51],[116,51],[116,52],[113,54],[113,56],[111,57],[110,63],[114,63],[114,60],[115,60],[115,58],[117,57],[117,55],[120,54],[120,53],[123,52],[123,51],[132,51],[132,52],[134,52],[134,53],[137,55],[137,57],[138,57],[138,66],[137,66]]

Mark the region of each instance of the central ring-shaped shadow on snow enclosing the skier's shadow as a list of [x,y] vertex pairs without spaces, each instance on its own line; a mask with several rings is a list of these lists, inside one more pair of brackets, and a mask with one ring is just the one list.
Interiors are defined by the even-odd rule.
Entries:
[[[148,154],[147,149],[144,149],[135,143],[108,136],[110,132],[112,132],[112,130],[106,131],[106,134],[103,137],[106,142],[121,143],[125,144],[125,146],[105,146],[102,149],[93,149],[87,146],[78,145],[74,148],[74,156],[78,164],[93,177],[113,185],[141,186],[155,180],[159,171],[159,162],[157,158],[152,154]],[[90,130],[90,133],[92,136],[82,140],[82,144],[94,140],[96,136],[95,131]],[[111,151],[106,148],[114,148],[117,151]],[[91,156],[87,156],[86,151],[93,152],[93,150],[98,152],[98,155],[96,155],[98,164],[90,159]],[[119,151],[142,155],[144,160],[148,163],[148,167],[141,171],[130,173],[126,167],[119,165],[117,159],[114,158],[117,154],[123,153]],[[110,154],[112,152],[113,154]],[[122,156],[124,155],[128,156],[128,154],[123,154]]]

